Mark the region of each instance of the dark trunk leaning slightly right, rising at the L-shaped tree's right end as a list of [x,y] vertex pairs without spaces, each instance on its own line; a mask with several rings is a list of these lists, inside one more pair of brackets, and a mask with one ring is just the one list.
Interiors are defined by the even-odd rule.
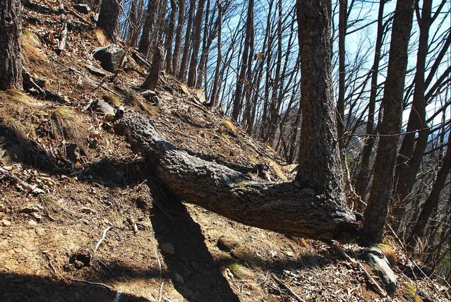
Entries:
[[402,122],[402,97],[407,69],[407,47],[414,15],[415,0],[397,1],[393,20],[387,80],[383,97],[381,136],[374,164],[373,185],[368,205],[363,214],[363,231],[369,241],[383,238],[388,204],[392,196],[397,155],[397,143]]

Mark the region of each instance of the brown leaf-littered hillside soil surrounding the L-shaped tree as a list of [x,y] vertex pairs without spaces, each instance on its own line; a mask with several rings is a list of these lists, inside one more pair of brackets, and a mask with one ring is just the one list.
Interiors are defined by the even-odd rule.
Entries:
[[180,203],[114,133],[122,109],[253,177],[289,181],[294,167],[206,109],[200,90],[166,75],[141,93],[148,63],[132,49],[119,45],[126,64],[105,70],[93,52],[110,42],[71,1],[57,52],[58,1],[25,2],[25,66],[47,93],[0,92],[0,301],[449,301],[390,234],[380,249],[392,298],[378,293],[390,278],[355,244],[288,238]]

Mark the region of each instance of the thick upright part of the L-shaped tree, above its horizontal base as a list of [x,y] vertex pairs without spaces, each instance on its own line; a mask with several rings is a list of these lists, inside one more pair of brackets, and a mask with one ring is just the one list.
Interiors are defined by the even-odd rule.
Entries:
[[330,0],[296,2],[301,53],[301,147],[296,181],[344,204],[330,67]]

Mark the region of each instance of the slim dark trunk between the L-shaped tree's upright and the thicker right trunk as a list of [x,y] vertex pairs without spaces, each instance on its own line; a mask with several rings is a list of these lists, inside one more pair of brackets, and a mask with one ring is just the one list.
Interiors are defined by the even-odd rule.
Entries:
[[379,2],[378,12],[378,33],[375,42],[373,67],[371,68],[371,92],[368,104],[368,121],[366,121],[366,134],[370,135],[365,139],[365,145],[363,146],[361,155],[361,167],[359,176],[356,180],[356,193],[361,196],[362,200],[366,199],[366,191],[368,190],[368,184],[370,183],[370,159],[373,152],[374,145],[374,113],[375,113],[375,101],[378,95],[378,76],[379,76],[379,62],[380,51],[383,45],[384,35],[384,5],[385,0]]

